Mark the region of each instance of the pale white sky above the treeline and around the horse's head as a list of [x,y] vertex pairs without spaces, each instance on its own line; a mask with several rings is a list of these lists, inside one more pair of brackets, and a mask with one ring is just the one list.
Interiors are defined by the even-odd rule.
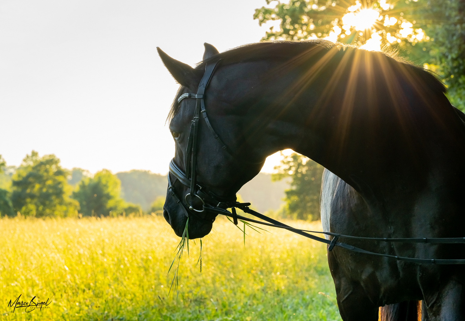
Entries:
[[0,155],[7,165],[35,150],[69,169],[166,174],[174,143],[165,120],[179,85],[156,47],[193,66],[204,42],[220,52],[257,42],[271,25],[252,16],[265,5],[2,0]]

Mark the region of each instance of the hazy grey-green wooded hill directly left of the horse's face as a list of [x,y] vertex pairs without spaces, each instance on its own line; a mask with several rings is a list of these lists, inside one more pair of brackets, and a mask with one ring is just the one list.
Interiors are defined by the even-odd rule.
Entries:
[[140,204],[143,210],[149,210],[150,204],[157,197],[166,194],[166,175],[159,175],[149,170],[131,170],[117,173],[121,181],[121,197],[126,202]]

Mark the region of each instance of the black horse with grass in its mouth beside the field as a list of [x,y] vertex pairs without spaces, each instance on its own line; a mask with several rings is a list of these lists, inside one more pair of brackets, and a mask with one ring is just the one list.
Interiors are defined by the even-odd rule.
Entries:
[[[291,148],[327,169],[321,194],[325,229],[386,238],[464,236],[465,116],[430,72],[383,52],[324,40],[263,42],[223,53],[205,46],[196,68],[159,54],[181,85],[169,113],[173,166],[188,172],[194,162],[191,176],[210,195],[235,200],[267,156]],[[197,149],[187,159],[191,121],[202,99],[181,95],[196,92],[215,63],[201,96],[209,124],[199,117]],[[169,177],[163,214],[181,236],[188,208],[199,209],[204,200],[189,194],[179,176]],[[216,214],[192,213],[190,238],[205,236]],[[391,255],[465,257],[460,244],[349,241]],[[384,320],[417,320],[419,300],[422,320],[465,320],[463,266],[402,262],[338,247],[328,252],[328,263],[345,321],[377,320],[385,305]]]

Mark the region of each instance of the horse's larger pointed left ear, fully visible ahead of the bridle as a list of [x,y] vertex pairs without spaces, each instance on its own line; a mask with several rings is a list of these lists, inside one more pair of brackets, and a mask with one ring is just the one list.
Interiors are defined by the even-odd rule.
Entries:
[[194,69],[183,62],[171,58],[159,47],[157,47],[157,51],[166,69],[168,69],[179,84],[190,89],[195,89],[199,86],[203,71]]

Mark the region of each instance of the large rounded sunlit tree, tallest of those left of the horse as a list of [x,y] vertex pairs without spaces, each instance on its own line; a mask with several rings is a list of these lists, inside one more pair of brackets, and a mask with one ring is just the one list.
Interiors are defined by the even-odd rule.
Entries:
[[68,171],[55,155],[32,151],[12,179],[11,201],[15,212],[24,216],[72,216],[79,204],[70,198]]

